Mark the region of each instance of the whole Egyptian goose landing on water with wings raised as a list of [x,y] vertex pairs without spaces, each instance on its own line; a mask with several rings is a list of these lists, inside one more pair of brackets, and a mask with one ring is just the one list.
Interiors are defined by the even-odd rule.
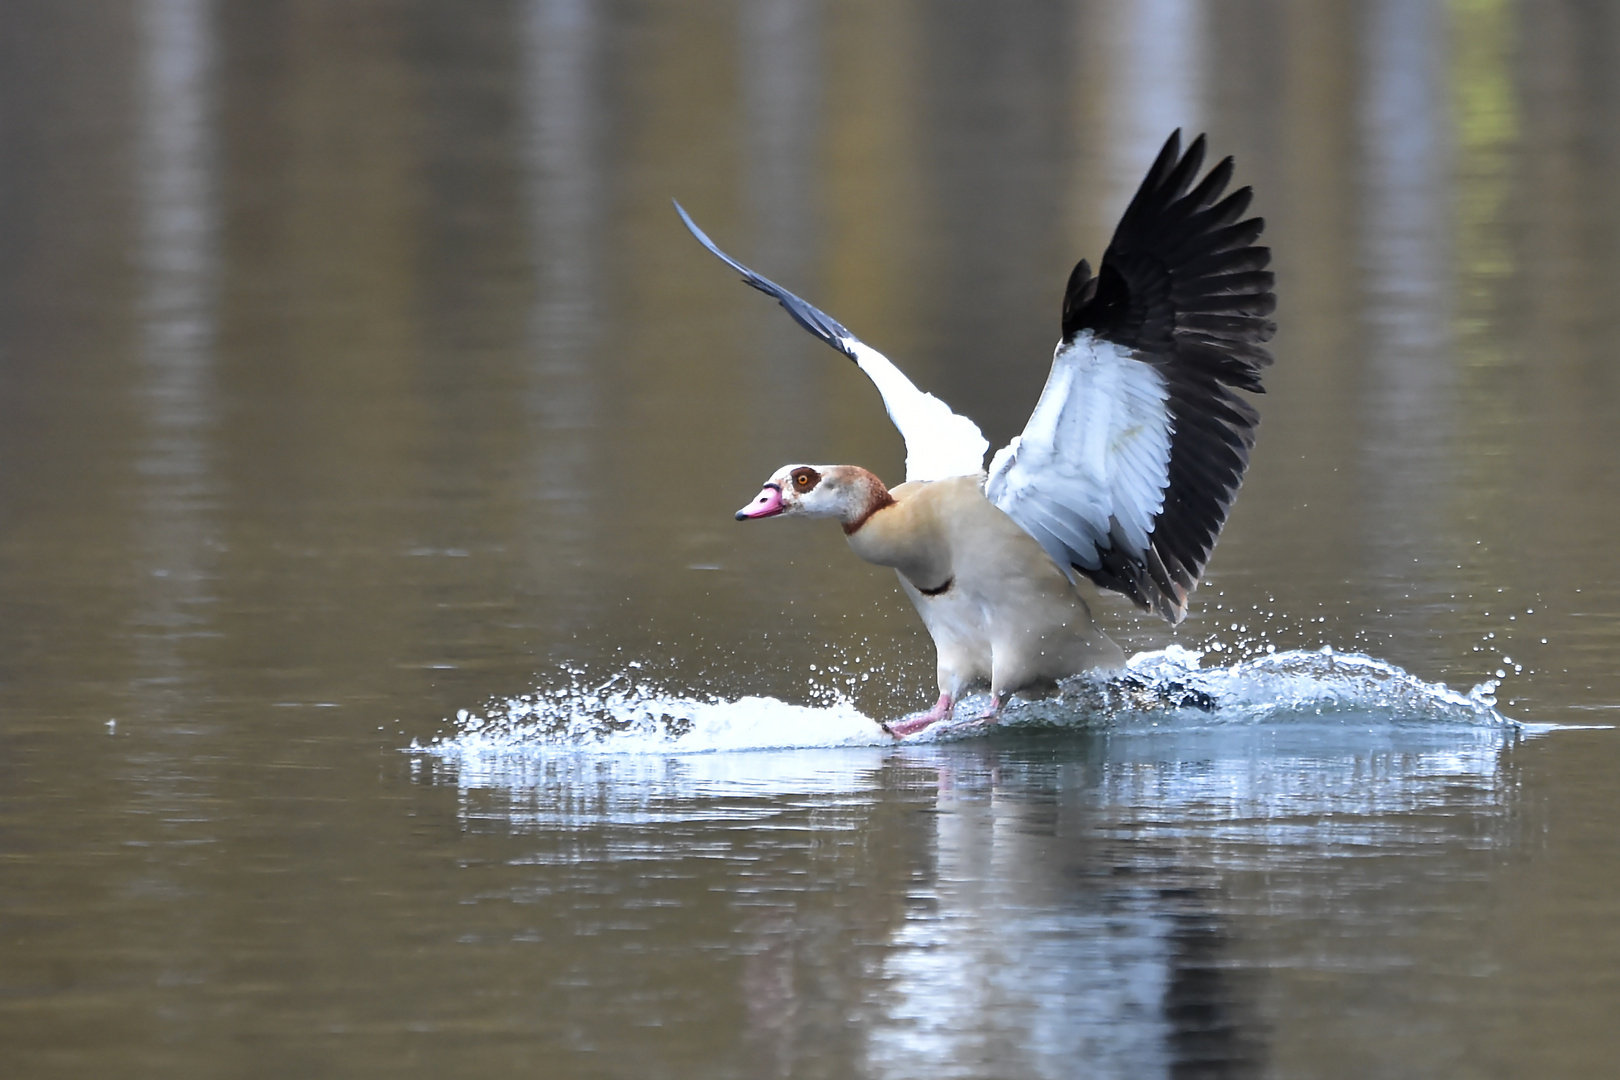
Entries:
[[[737,520],[836,518],[857,555],[899,573],[938,651],[940,699],[896,737],[951,716],[990,683],[995,722],[1016,693],[1118,669],[1076,575],[1171,625],[1187,612],[1243,483],[1259,421],[1233,393],[1262,393],[1277,306],[1251,189],[1221,198],[1231,159],[1202,180],[1204,136],[1165,142],[1097,275],[1082,259],[1063,295],[1063,337],[1024,432],[990,460],[974,421],[923,393],[881,353],[711,241],[742,280],[872,379],[906,440],[906,483],[854,465],[789,465]],[[1197,183],[1194,183],[1197,180]]]

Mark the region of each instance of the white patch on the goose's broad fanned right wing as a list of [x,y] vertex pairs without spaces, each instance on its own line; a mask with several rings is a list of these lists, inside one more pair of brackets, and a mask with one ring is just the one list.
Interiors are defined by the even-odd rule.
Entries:
[[1144,557],[1170,486],[1168,402],[1152,364],[1082,330],[1058,347],[1024,434],[990,461],[985,497],[1059,567],[1097,570],[1115,544]]

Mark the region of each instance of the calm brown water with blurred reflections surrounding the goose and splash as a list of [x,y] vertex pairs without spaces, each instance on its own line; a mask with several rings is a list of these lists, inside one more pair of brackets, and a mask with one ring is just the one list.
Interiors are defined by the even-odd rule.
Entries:
[[[876,395],[669,199],[1000,445],[1178,125],[1278,363],[1187,623],[1102,617],[1588,727],[400,753],[925,704],[731,520],[897,478]],[[1617,175],[1597,2],[0,6],[5,1075],[1614,1075]]]

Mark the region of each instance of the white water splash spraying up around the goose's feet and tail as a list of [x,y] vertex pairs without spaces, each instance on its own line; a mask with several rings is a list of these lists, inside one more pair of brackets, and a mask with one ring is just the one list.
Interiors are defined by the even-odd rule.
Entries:
[[[1087,729],[1129,735],[1281,725],[1356,727],[1518,727],[1495,708],[1495,682],[1458,693],[1361,654],[1275,653],[1230,667],[1200,667],[1202,654],[1170,646],[1131,657],[1126,677],[1079,677],[1061,695],[1021,703],[1003,714],[1000,730]],[[567,685],[492,703],[484,712],[462,711],[455,729],[410,751],[442,761],[483,761],[543,751],[593,755],[703,755],[747,750],[888,746],[876,717],[850,699],[792,704],[776,698],[737,699],[671,695],[619,672],[590,682],[567,672]],[[944,742],[983,737],[972,717],[982,699],[957,706],[956,721],[906,740]]]

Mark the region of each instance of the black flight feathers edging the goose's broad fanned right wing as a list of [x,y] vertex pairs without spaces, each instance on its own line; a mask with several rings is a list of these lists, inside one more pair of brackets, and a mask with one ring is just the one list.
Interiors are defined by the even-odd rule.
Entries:
[[1076,567],[1098,586],[1129,596],[1171,623],[1226,525],[1254,447],[1259,415],[1233,393],[1264,393],[1272,363],[1265,342],[1277,325],[1268,248],[1256,246],[1265,220],[1243,219],[1249,188],[1221,198],[1226,157],[1202,181],[1200,134],[1181,154],[1181,131],[1165,141],[1126,207],[1092,277],[1081,261],[1063,295],[1063,342],[1082,330],[1132,350],[1170,390],[1170,484],[1149,534],[1145,559],[1119,544],[1102,567]]

